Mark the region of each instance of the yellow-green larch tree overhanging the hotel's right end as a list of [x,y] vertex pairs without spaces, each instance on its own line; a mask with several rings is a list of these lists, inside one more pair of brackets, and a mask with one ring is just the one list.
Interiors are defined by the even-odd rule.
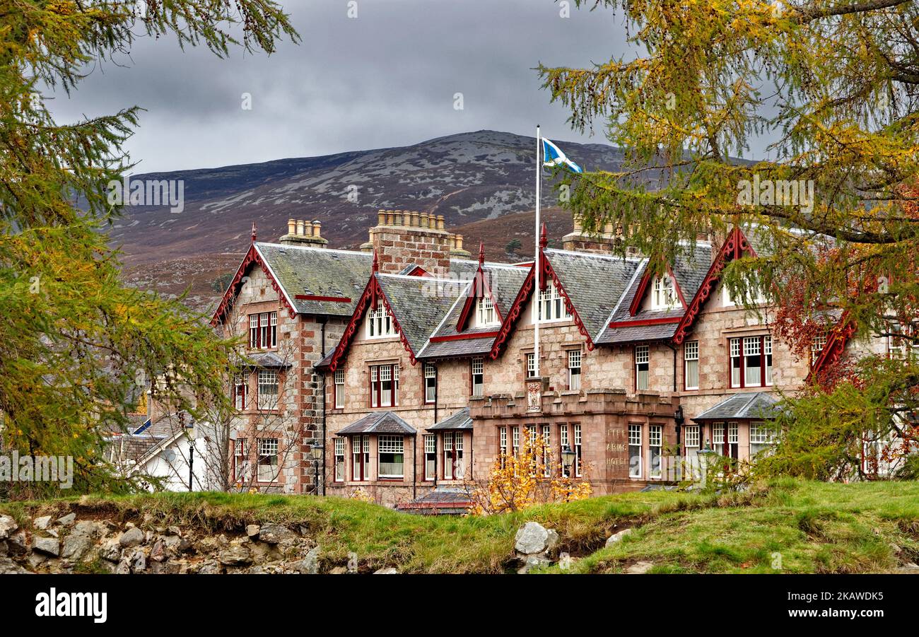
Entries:
[[[875,348],[831,361],[789,397],[779,421],[795,434],[772,466],[847,477],[868,472],[866,442],[891,457],[915,449],[919,7],[575,2],[621,14],[636,53],[590,68],[539,66],[573,128],[599,128],[626,153],[619,172],[569,177],[574,214],[587,230],[612,222],[620,249],[638,247],[658,271],[700,234],[723,238],[740,225],[757,255],[732,262],[722,280],[748,308],[762,290],[799,356],[824,336],[898,344],[896,359]],[[749,156],[751,142],[767,143],[763,159],[733,158]],[[891,437],[906,444],[885,445]]]

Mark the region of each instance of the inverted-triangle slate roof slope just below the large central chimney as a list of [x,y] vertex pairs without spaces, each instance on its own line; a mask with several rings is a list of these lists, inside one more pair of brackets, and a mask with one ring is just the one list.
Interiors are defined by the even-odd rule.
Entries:
[[408,339],[412,351],[418,354],[459,297],[461,287],[450,279],[393,274],[376,276],[396,321],[402,327],[403,336]]

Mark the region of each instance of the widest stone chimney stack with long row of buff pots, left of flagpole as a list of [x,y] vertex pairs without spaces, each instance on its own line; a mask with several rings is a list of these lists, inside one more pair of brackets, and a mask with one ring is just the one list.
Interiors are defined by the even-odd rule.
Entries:
[[360,246],[376,252],[380,272],[395,274],[415,264],[431,274],[449,271],[450,258],[468,258],[462,234],[448,233],[444,216],[414,210],[378,210],[369,241]]

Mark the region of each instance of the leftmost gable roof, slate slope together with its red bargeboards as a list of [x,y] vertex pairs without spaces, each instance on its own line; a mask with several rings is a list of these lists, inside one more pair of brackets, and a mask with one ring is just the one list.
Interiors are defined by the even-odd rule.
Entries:
[[291,317],[297,313],[349,316],[367,282],[370,264],[371,256],[365,252],[253,241],[210,324],[221,322],[255,265],[265,271]]

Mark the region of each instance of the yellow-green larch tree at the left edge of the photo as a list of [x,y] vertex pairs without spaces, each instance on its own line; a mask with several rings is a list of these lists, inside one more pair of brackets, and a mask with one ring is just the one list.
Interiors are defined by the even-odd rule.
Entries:
[[124,285],[108,247],[138,108],[60,123],[42,95],[167,34],[221,57],[298,40],[272,0],[0,0],[0,449],[72,456],[74,490],[130,486],[100,454],[146,387],[192,415],[229,408],[233,344]]

